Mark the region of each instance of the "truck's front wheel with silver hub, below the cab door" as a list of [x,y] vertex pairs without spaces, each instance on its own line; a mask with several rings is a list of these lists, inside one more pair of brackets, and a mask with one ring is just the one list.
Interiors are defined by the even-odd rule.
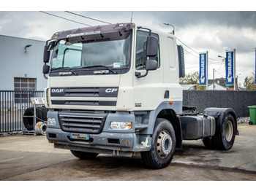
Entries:
[[147,168],[165,168],[173,159],[175,147],[173,125],[168,120],[159,118],[154,125],[150,151],[140,152],[140,155]]

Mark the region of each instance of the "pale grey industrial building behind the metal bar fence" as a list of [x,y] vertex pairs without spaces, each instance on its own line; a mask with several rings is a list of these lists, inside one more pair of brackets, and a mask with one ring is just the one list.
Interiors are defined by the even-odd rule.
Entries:
[[31,98],[43,97],[45,42],[0,35],[0,135],[23,130],[23,113]]

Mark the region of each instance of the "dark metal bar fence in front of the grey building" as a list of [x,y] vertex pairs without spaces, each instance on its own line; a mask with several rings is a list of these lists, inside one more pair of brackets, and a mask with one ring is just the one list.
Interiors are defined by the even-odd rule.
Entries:
[[23,130],[23,112],[31,107],[30,98],[43,96],[43,91],[0,90],[0,133]]

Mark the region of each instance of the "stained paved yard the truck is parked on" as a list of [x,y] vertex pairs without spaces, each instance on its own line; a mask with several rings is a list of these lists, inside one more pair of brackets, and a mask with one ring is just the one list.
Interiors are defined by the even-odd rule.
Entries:
[[238,125],[230,151],[208,150],[184,141],[164,169],[144,168],[140,156],[99,155],[79,160],[54,149],[45,136],[0,137],[0,180],[256,180],[256,125]]

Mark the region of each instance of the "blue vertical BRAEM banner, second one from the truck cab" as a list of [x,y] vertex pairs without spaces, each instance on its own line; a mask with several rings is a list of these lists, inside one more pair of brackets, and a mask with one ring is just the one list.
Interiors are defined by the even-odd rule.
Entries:
[[234,84],[234,51],[226,52],[226,85]]

